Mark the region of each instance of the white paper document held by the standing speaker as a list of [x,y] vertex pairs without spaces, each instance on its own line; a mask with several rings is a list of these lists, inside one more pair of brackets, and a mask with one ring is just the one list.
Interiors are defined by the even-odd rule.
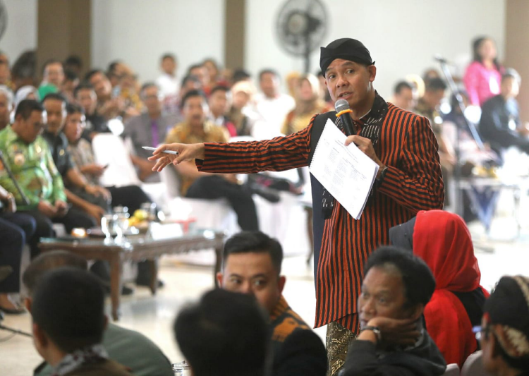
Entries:
[[340,205],[359,219],[379,166],[354,143],[344,145],[346,138],[332,120],[327,120],[309,169]]

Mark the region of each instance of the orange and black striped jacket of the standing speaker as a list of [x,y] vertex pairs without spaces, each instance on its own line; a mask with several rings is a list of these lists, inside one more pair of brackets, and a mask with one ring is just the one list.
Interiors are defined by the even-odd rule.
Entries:
[[[307,128],[286,137],[206,143],[205,159],[196,161],[197,168],[256,173],[307,166],[314,119]],[[363,122],[355,123],[360,133]],[[377,246],[389,243],[392,226],[408,221],[419,210],[442,209],[444,184],[437,147],[426,118],[388,103],[376,149],[388,166],[384,181],[370,196],[358,221],[339,202],[325,221],[317,269],[315,327],[337,321],[358,332],[356,301],[367,257]],[[313,205],[321,205],[320,200]]]

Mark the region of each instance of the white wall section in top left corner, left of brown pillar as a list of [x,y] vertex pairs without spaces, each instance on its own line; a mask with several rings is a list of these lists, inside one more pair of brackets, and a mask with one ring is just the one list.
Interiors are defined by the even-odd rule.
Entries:
[[37,0],[4,0],[7,29],[0,40],[0,49],[13,63],[18,56],[37,48]]

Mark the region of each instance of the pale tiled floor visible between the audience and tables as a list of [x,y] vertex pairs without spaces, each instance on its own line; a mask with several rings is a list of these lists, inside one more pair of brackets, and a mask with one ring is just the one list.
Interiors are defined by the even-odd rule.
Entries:
[[[477,245],[476,255],[482,271],[482,284],[490,289],[504,274],[529,274],[529,229],[524,224],[521,236],[516,236],[516,223],[509,212],[495,219],[490,237],[485,237],[482,226],[473,224],[470,230]],[[492,250],[492,252],[490,252]],[[201,260],[211,260],[211,253],[203,253]],[[123,297],[120,325],[142,332],[152,339],[173,362],[182,360],[174,342],[171,324],[178,310],[194,301],[203,291],[212,288],[212,269],[190,265],[181,258],[162,260],[161,277],[166,282],[157,296],[151,296],[145,288],[136,289],[133,296]],[[288,257],[283,272],[287,277],[284,291],[287,301],[309,324],[315,317],[315,292],[312,265],[307,267],[305,257]],[[30,315],[6,315],[3,325],[30,330]],[[317,329],[324,338],[325,328]],[[16,335],[6,339],[8,332],[0,329],[0,375],[30,375],[40,362],[32,346],[32,340]]]

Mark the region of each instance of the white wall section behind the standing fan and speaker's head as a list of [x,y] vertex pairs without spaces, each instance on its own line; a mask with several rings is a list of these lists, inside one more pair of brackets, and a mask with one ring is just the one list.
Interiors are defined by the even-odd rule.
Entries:
[[[268,66],[281,75],[303,71],[303,59],[286,54],[277,42],[275,20],[285,0],[248,0],[245,64],[253,73]],[[360,40],[377,62],[375,87],[389,99],[397,80],[438,67],[441,54],[465,66],[471,40],[490,35],[504,51],[505,0],[322,0],[329,29],[322,46],[341,37]],[[319,69],[319,49],[311,72]]]

